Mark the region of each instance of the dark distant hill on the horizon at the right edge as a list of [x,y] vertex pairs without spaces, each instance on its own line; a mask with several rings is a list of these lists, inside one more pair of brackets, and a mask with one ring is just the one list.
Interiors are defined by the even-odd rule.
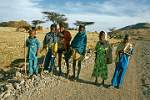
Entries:
[[129,25],[129,26],[123,27],[119,30],[147,29],[147,28],[150,28],[150,23],[137,23],[134,25]]

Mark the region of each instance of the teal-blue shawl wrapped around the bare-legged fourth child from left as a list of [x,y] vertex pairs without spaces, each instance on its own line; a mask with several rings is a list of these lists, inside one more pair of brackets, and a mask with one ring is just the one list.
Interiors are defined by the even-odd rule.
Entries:
[[84,55],[86,52],[87,35],[86,32],[79,32],[71,42],[71,47],[79,54]]

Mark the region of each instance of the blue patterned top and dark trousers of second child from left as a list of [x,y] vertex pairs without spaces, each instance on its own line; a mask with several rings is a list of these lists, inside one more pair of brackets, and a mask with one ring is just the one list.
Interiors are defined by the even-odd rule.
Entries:
[[49,45],[57,42],[58,42],[58,36],[56,35],[56,33],[49,32],[46,34],[43,41],[44,45],[48,45],[48,52],[46,54],[46,59],[44,64],[45,70],[51,71],[55,67],[55,57],[52,55],[52,49],[50,48]]

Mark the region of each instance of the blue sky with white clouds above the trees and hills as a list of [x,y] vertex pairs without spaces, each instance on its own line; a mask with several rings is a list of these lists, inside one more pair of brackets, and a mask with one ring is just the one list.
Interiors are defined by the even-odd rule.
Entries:
[[76,20],[95,22],[88,31],[150,23],[150,0],[0,0],[0,22],[45,20],[43,11],[65,14],[70,27]]

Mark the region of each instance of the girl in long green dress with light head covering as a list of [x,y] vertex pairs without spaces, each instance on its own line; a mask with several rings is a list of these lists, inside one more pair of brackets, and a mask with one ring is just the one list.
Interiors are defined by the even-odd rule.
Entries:
[[96,58],[95,65],[93,69],[92,76],[95,77],[95,84],[98,83],[98,77],[102,78],[102,85],[104,85],[104,80],[108,78],[108,69],[107,69],[107,58],[106,53],[109,48],[109,43],[106,41],[106,33],[101,31],[99,34],[99,41],[96,44]]

